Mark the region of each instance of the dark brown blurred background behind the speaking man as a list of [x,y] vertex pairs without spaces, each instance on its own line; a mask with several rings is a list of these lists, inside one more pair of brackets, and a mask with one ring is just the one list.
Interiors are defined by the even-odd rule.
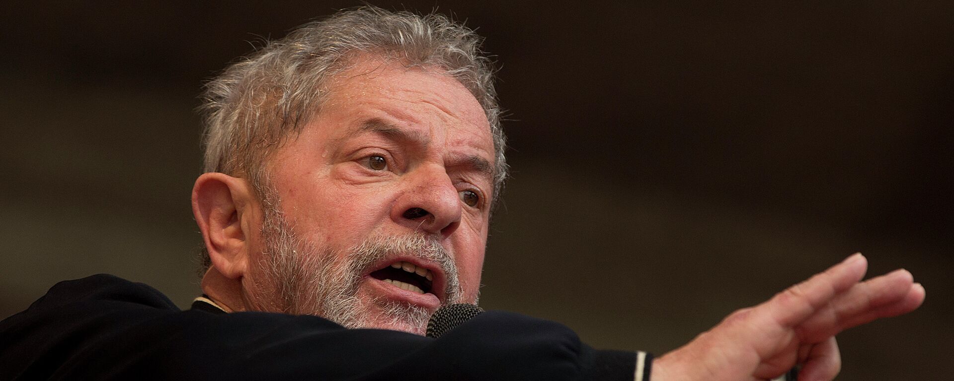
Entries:
[[[4,6],[0,317],[97,272],[197,294],[202,82],[359,5],[264,3]],[[372,3],[452,13],[501,64],[486,308],[663,353],[862,251],[927,300],[842,333],[839,379],[949,379],[954,4]]]

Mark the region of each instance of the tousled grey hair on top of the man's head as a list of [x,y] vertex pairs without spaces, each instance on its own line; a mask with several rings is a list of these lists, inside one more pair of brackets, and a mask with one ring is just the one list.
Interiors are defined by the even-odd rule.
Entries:
[[307,23],[229,66],[205,87],[204,171],[248,176],[259,191],[264,163],[321,108],[324,82],[362,54],[407,66],[436,67],[464,85],[487,114],[493,135],[495,205],[508,175],[506,137],[483,39],[442,14],[376,7],[343,10]]

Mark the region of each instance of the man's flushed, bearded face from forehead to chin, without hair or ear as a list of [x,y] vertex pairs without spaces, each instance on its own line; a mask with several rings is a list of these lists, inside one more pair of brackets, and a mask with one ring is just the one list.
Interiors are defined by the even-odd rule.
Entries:
[[[400,296],[407,291],[366,275],[388,255],[440,265],[446,287],[438,293],[446,297],[439,303],[478,300],[494,186],[487,118],[452,78],[378,62],[353,70],[372,68],[381,72],[343,73],[327,107],[268,161],[261,240],[253,245],[257,269],[245,283],[250,310],[423,334],[438,306],[411,303]],[[434,99],[447,107],[424,101]],[[375,150],[398,162],[364,167]],[[484,198],[481,208],[464,204],[466,190]],[[410,208],[429,213],[405,219]]]

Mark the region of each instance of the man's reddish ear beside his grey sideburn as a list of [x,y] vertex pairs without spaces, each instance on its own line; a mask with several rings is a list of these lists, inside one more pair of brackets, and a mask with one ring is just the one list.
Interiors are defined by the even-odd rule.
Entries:
[[212,266],[229,279],[241,278],[248,271],[253,250],[251,230],[257,229],[260,221],[252,186],[225,173],[202,173],[192,189],[192,212]]

